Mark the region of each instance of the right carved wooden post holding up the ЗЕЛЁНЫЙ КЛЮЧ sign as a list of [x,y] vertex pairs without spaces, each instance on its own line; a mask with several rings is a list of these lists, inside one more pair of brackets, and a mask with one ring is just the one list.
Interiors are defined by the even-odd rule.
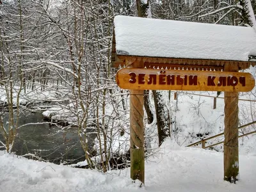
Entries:
[[[237,65],[225,64],[225,71],[237,72]],[[224,180],[236,182],[239,173],[238,92],[225,92]]]

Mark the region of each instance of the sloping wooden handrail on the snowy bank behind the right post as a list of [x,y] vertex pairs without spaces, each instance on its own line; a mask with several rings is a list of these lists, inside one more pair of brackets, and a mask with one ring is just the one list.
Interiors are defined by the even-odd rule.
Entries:
[[[255,122],[251,122],[250,124],[246,124],[246,125],[243,125],[243,126],[241,126],[241,127],[238,127],[238,129],[242,129],[242,128],[247,127],[247,126],[252,125],[252,124],[256,124],[256,121],[255,121]],[[243,137],[243,136],[247,136],[247,135],[249,135],[249,134],[254,134],[254,133],[256,133],[256,131],[247,132],[247,133],[245,133],[245,134],[241,134],[241,135],[239,136],[239,138],[241,138],[241,137]],[[212,145],[205,146],[206,141],[211,140],[211,139],[213,139],[213,138],[218,138],[219,136],[223,136],[223,135],[224,135],[224,132],[221,132],[221,133],[216,134],[216,135],[214,135],[214,136],[211,136],[211,137],[209,137],[209,138],[205,138],[205,139],[203,139],[203,140],[200,140],[200,141],[197,141],[197,142],[195,142],[195,143],[192,143],[192,144],[188,145],[187,147],[196,146],[196,145],[198,145],[198,144],[200,144],[200,143],[202,143],[202,148],[214,147],[214,146],[216,146],[216,145],[220,145],[221,143],[224,143],[224,141],[221,141],[221,142],[218,142],[218,143],[214,143],[214,144],[212,144]]]

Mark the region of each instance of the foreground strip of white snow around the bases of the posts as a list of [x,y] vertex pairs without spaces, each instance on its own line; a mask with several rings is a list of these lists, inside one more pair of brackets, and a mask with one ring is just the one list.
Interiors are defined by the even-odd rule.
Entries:
[[223,153],[179,147],[170,140],[145,163],[145,186],[129,168],[101,173],[0,152],[0,191],[255,191],[256,150],[239,156],[236,184],[223,180]]

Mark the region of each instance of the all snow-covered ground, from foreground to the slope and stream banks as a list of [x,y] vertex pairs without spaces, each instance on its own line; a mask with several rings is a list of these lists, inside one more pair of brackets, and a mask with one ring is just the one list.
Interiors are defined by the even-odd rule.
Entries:
[[[249,72],[256,77],[254,67]],[[1,91],[1,88],[0,88]],[[172,91],[172,98],[173,98]],[[35,93],[34,102],[52,99],[55,92]],[[168,98],[168,92],[166,94]],[[172,141],[168,139],[161,148],[157,148],[156,122],[146,125],[147,135],[151,140],[152,155],[145,164],[145,186],[139,188],[140,182],[132,183],[129,168],[122,171],[101,173],[97,170],[84,170],[70,166],[56,165],[32,161],[0,151],[0,192],[7,191],[255,191],[256,182],[256,135],[239,139],[239,178],[237,184],[223,181],[223,152],[221,145],[216,147],[220,152],[203,150],[200,148],[186,148],[184,146],[200,138],[212,136],[224,129],[224,102],[217,99],[217,108],[213,107],[216,92],[178,92],[177,100],[164,100],[166,106],[172,109]],[[27,104],[31,95],[22,94],[21,101]],[[26,97],[25,97],[26,96]],[[38,96],[38,97],[37,97]],[[223,97],[223,93],[219,97]],[[239,93],[239,125],[252,122],[256,118],[256,88],[249,93]],[[65,100],[65,99],[63,99]],[[248,101],[253,100],[253,101]],[[0,101],[6,102],[3,92]],[[127,98],[127,104],[129,100]],[[69,105],[70,107],[70,105]],[[45,116],[62,119],[65,115],[62,108],[51,108],[44,112]],[[108,111],[113,111],[108,108]],[[108,112],[107,111],[107,112]],[[68,113],[67,113],[68,116]],[[68,116],[70,117],[70,116]],[[65,119],[66,116],[63,116]],[[72,122],[72,119],[65,119]],[[122,136],[122,145],[129,148],[129,125]],[[247,129],[247,128],[246,128]],[[249,127],[255,131],[255,125]],[[246,130],[244,130],[246,132]],[[202,136],[198,136],[198,135]],[[155,139],[154,139],[155,138]],[[120,138],[116,140],[120,145]],[[223,137],[222,137],[223,139]],[[117,142],[118,141],[118,142]],[[213,141],[212,141],[213,142]],[[179,147],[179,145],[182,147]],[[216,141],[214,141],[216,143]],[[126,145],[127,144],[127,145]],[[211,141],[207,145],[211,144]],[[124,147],[124,148],[125,148]],[[115,146],[113,147],[115,148]]]

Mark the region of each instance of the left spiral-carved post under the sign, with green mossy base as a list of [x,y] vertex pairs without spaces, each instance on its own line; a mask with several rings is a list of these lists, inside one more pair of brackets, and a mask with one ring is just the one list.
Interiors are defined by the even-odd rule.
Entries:
[[[143,68],[143,61],[136,61],[132,67]],[[143,119],[143,90],[130,90],[131,179],[145,184]]]

